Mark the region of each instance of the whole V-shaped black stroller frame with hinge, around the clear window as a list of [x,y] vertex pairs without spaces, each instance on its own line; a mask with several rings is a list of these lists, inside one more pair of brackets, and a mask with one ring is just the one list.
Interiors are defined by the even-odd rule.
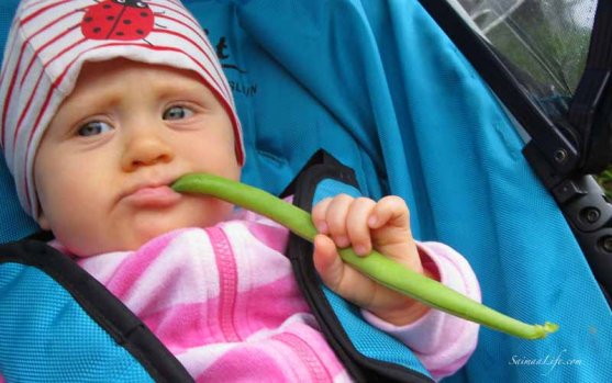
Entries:
[[523,90],[511,64],[450,2],[419,2],[530,134],[525,158],[555,196],[604,294],[612,295],[612,205],[592,177],[583,176],[598,172],[593,170],[602,169],[612,158],[612,2],[600,0],[598,4],[587,70],[571,105],[574,124],[550,121]]

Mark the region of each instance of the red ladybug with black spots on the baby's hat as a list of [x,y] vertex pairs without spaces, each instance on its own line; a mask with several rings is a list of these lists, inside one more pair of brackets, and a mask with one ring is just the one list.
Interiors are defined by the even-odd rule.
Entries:
[[154,22],[142,0],[103,0],[85,9],[80,26],[86,38],[132,41],[145,38]]

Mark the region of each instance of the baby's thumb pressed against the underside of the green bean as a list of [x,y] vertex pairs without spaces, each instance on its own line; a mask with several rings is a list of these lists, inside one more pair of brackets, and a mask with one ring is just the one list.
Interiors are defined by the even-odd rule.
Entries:
[[337,292],[344,273],[344,262],[340,258],[334,241],[322,234],[314,237],[314,268],[325,285]]

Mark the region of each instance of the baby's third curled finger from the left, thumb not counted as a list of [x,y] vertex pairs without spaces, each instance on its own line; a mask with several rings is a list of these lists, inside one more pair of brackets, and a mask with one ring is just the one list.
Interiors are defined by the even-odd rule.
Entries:
[[371,251],[370,228],[368,217],[376,202],[366,198],[353,201],[346,216],[346,233],[355,252],[365,256]]

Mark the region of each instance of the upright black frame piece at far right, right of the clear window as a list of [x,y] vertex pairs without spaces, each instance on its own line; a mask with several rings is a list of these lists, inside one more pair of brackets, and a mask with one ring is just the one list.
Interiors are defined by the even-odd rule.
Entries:
[[582,78],[569,109],[581,136],[582,174],[599,173],[612,161],[612,2],[600,0]]

